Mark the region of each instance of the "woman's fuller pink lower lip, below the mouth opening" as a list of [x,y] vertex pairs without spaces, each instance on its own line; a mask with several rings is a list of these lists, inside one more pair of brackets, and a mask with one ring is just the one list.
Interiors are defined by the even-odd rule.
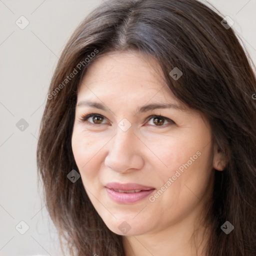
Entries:
[[148,196],[150,193],[152,193],[155,189],[150,189],[150,190],[144,190],[140,192],[135,192],[135,193],[122,193],[122,192],[116,192],[113,189],[107,188],[106,191],[109,195],[109,197],[118,203],[132,203],[136,202],[139,200],[142,200],[146,196]]

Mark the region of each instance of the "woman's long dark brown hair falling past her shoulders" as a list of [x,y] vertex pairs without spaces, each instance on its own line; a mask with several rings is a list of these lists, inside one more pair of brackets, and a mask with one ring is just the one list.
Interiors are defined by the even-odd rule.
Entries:
[[[72,255],[124,255],[121,235],[106,227],[81,179],[72,183],[67,174],[79,172],[71,148],[79,82],[102,54],[127,50],[156,58],[174,95],[208,116],[214,143],[226,156],[225,169],[215,170],[207,255],[256,255],[256,81],[222,19],[196,0],[111,0],[70,37],[49,86],[37,166],[47,210]],[[174,67],[183,73],[176,81],[169,75]],[[226,220],[234,226],[229,234],[220,229]]]

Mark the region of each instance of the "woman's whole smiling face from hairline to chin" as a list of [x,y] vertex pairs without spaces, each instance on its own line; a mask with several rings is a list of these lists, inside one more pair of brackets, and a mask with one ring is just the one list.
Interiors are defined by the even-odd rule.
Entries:
[[77,93],[75,162],[96,211],[121,235],[153,233],[196,215],[218,167],[207,120],[175,98],[149,63],[158,67],[140,53],[101,56]]

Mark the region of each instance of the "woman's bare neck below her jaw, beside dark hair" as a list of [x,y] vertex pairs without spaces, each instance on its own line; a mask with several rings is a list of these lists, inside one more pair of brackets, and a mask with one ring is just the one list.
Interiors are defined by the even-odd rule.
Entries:
[[160,231],[123,236],[125,256],[205,256],[203,249],[208,241],[209,227],[203,224],[205,214],[201,214],[200,220],[196,219],[198,211]]

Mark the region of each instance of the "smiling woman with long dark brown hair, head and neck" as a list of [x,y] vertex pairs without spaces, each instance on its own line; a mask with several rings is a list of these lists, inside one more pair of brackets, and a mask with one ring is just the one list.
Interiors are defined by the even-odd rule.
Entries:
[[256,81],[196,0],[112,0],[67,42],[37,147],[71,255],[256,255]]

